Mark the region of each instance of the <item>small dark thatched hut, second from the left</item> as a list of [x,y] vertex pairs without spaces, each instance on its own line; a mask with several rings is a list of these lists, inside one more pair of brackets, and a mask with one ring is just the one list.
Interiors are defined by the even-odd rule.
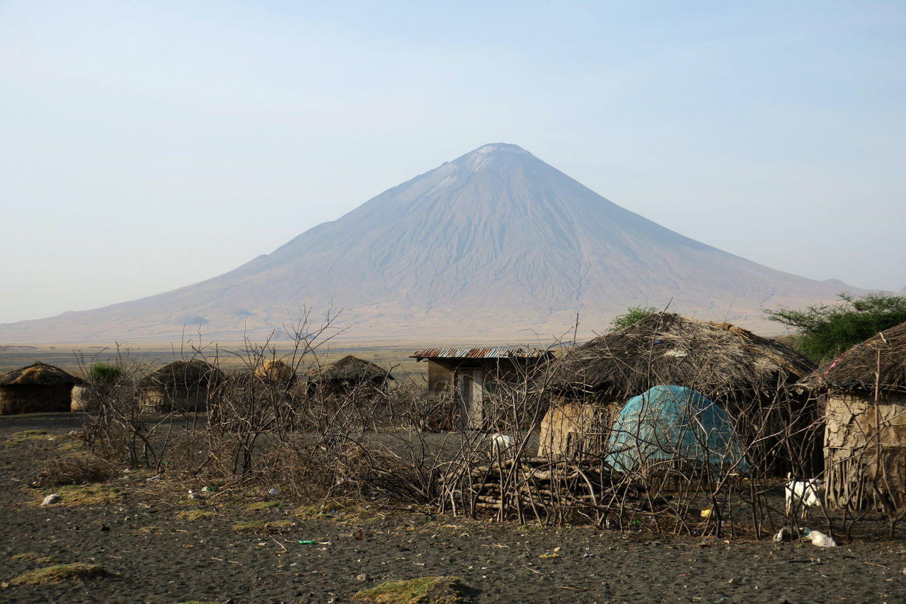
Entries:
[[141,405],[154,411],[205,411],[226,379],[203,360],[177,360],[141,379]]

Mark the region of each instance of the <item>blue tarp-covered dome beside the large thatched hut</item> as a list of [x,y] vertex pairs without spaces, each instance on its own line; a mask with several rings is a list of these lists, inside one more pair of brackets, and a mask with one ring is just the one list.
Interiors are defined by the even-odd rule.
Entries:
[[748,462],[724,410],[695,390],[655,386],[622,408],[608,443],[607,463],[625,472],[635,465],[683,461],[715,473],[748,471]]

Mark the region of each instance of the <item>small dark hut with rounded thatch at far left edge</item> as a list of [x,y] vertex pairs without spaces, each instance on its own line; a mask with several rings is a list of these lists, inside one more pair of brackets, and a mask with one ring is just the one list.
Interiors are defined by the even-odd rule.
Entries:
[[82,383],[40,361],[15,369],[0,378],[0,415],[69,411],[72,387]]

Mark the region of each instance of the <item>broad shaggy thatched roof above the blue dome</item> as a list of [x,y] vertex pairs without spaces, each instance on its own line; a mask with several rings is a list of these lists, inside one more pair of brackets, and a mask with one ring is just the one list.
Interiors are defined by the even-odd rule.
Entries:
[[552,387],[614,401],[672,384],[727,403],[770,396],[812,369],[812,361],[786,344],[735,325],[655,312],[567,352]]

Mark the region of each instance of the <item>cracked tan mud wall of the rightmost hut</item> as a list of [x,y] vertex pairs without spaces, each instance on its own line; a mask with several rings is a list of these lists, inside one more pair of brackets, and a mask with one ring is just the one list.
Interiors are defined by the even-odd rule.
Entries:
[[877,411],[876,415],[872,396],[839,394],[827,398],[824,478],[826,501],[831,507],[881,509],[873,488],[877,476],[879,489],[888,494],[898,510],[906,509],[906,396],[882,400]]

